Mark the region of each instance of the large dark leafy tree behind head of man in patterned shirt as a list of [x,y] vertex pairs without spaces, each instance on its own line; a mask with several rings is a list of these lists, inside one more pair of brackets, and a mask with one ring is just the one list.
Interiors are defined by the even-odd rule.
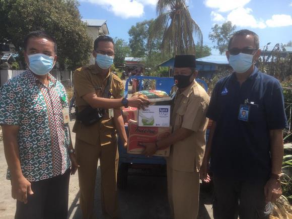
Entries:
[[54,36],[60,68],[88,63],[92,39],[82,23],[77,0],[0,0],[0,43],[12,43],[23,55],[24,37],[43,30]]

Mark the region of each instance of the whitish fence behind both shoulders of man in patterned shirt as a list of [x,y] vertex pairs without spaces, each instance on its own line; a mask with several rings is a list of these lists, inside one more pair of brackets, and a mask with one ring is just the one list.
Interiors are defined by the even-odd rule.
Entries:
[[[0,85],[4,85],[9,79],[12,79],[19,74],[21,74],[24,70],[10,70],[10,69],[1,69],[0,70]],[[72,71],[69,70],[58,70],[53,69],[51,71],[53,77],[55,77],[58,81],[62,82],[65,87],[71,87],[72,85]]]

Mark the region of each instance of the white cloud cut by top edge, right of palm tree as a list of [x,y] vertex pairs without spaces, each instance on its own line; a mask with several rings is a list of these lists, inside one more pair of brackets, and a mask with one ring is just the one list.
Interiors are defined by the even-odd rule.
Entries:
[[218,9],[219,12],[228,12],[237,8],[243,8],[251,0],[205,0],[204,4],[208,8]]

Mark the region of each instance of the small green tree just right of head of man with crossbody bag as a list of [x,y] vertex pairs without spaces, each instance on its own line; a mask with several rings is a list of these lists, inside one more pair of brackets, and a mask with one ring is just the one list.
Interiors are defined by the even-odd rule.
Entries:
[[120,67],[125,62],[125,57],[130,54],[130,48],[123,39],[114,38],[115,42],[115,57],[114,64],[115,67]]

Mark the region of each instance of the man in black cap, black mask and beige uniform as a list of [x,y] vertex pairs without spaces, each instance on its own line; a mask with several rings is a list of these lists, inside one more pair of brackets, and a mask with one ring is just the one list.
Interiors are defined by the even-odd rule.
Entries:
[[205,151],[209,96],[194,81],[194,55],[177,55],[174,80],[178,87],[171,112],[172,134],[156,143],[144,143],[146,156],[171,146],[167,158],[168,198],[172,217],[195,219],[199,208],[199,170]]

